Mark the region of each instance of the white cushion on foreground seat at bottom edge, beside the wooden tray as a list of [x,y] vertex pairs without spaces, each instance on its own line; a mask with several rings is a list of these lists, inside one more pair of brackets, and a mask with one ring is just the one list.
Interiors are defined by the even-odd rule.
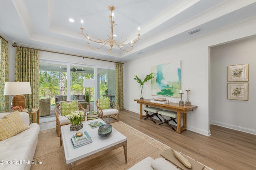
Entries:
[[178,170],[176,166],[164,158],[156,158],[151,162],[151,166],[154,170]]

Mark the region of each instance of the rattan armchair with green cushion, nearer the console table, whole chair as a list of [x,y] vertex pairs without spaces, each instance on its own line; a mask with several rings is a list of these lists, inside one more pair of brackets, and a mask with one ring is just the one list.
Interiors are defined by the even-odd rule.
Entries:
[[114,123],[119,121],[119,106],[114,104],[109,98],[101,99],[99,98],[95,105],[98,111],[98,117],[105,121],[106,123]]

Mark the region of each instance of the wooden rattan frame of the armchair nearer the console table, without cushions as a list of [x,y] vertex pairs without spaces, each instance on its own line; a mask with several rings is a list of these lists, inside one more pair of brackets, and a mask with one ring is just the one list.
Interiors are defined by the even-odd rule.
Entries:
[[120,111],[119,106],[117,104],[115,104],[112,100],[109,99],[109,103],[110,103],[109,108],[117,109],[118,113],[112,114],[112,115],[104,115],[104,109],[102,110],[102,108],[98,105],[98,100],[95,102],[99,118],[102,119],[103,121],[104,121],[104,119],[106,120],[106,118],[108,118],[108,121],[105,121],[108,124],[119,121],[119,111]]

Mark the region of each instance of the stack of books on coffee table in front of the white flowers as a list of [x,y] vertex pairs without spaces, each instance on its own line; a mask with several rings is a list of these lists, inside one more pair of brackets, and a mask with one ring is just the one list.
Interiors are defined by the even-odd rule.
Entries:
[[92,143],[92,139],[90,135],[87,133],[87,131],[85,131],[85,132],[82,132],[82,136],[80,137],[73,135],[73,137],[71,138],[71,143],[74,148],[78,148],[88,143]]

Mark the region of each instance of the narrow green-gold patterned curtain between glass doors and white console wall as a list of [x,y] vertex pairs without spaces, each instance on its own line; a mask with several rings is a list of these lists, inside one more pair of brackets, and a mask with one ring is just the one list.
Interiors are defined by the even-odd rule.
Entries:
[[123,65],[116,63],[116,104],[120,110],[124,109],[124,91],[123,91]]

